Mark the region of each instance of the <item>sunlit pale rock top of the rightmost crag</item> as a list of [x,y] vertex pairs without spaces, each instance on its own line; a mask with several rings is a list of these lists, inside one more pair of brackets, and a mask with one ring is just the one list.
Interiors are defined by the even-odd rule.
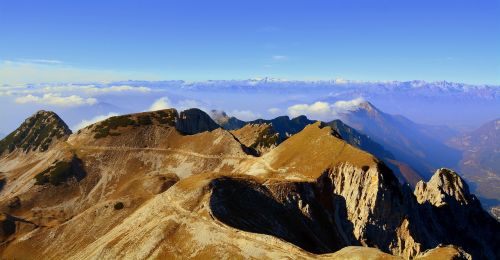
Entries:
[[427,183],[418,182],[415,196],[419,203],[430,202],[437,207],[450,203],[466,205],[471,200],[467,183],[456,172],[446,168],[438,169]]

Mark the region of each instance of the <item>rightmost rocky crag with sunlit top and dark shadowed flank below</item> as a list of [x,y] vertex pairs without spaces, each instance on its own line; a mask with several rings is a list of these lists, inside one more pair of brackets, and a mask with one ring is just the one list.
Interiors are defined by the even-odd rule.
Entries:
[[427,245],[452,244],[474,259],[498,259],[500,223],[483,210],[456,172],[439,169],[429,182],[418,183],[414,193],[432,241]]

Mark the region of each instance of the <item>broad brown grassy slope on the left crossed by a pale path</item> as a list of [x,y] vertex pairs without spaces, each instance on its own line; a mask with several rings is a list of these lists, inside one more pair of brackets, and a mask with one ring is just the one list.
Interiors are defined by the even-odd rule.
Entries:
[[[70,242],[83,246],[93,241],[92,237],[105,234],[179,178],[205,171],[231,171],[235,164],[248,157],[246,148],[229,132],[218,128],[184,135],[173,122],[158,114],[126,116],[125,123],[119,124],[107,120],[79,131],[68,142],[46,153],[3,158],[0,171],[7,183],[0,197],[0,208],[41,226],[31,234],[40,240],[30,242],[42,250],[54,246],[55,257],[62,252],[58,251],[59,244],[52,245],[52,241],[47,240],[49,233],[63,235],[67,239],[61,242],[65,247]],[[113,120],[116,122],[116,118]],[[112,127],[103,130],[106,129],[103,125]],[[200,125],[185,127],[193,130],[200,129]],[[100,133],[105,135],[99,136]],[[35,184],[38,174],[50,175],[51,167],[57,162],[71,161],[73,157],[82,161],[83,179],[65,179],[57,185]],[[114,210],[119,203],[124,208]],[[16,206],[11,207],[13,204]],[[72,220],[78,221],[73,225]],[[92,236],[81,235],[79,229],[85,225],[89,225]],[[46,254],[36,248],[26,252]]]

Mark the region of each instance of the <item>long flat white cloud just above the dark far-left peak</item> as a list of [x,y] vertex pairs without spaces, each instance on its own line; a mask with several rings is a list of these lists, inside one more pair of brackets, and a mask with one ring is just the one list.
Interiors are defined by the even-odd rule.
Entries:
[[45,94],[43,96],[26,95],[14,100],[18,104],[38,103],[43,105],[73,107],[82,105],[94,105],[97,103],[95,98],[82,98],[77,95],[61,96],[59,94]]

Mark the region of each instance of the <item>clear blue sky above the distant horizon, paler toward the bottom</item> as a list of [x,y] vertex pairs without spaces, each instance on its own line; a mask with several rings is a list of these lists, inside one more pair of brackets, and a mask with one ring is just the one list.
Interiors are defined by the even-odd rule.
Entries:
[[1,1],[0,84],[264,76],[500,84],[499,14],[499,0]]

